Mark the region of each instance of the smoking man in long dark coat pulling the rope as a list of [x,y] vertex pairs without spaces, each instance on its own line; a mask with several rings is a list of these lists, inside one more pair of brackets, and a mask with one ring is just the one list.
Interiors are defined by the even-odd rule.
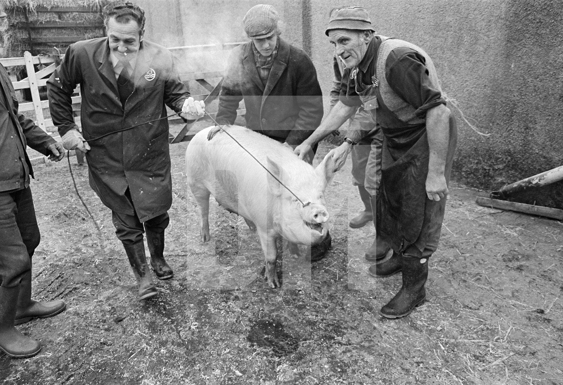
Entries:
[[[143,39],[142,8],[129,1],[110,3],[104,24],[108,37],[70,45],[48,80],[51,117],[65,148],[86,152],[90,186],[111,209],[137,278],[138,299],[148,299],[158,291],[146,263],[144,232],[157,277],[173,276],[163,256],[172,205],[165,104],[186,120],[202,117],[204,106],[190,97],[170,52]],[[84,136],[72,114],[77,84]],[[164,119],[139,125],[156,118]]]

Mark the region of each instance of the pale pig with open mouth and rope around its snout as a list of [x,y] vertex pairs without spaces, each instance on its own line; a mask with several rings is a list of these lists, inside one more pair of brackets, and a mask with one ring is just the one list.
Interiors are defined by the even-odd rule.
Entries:
[[187,184],[198,204],[200,236],[209,241],[209,195],[230,212],[242,216],[256,229],[265,256],[265,278],[270,287],[280,287],[276,274],[276,239],[288,240],[291,254],[297,245],[316,245],[327,236],[329,213],[324,191],[336,166],[330,153],[316,168],[300,160],[288,147],[265,135],[240,126],[223,127],[272,177],[226,132],[211,140],[204,129],[186,149]]

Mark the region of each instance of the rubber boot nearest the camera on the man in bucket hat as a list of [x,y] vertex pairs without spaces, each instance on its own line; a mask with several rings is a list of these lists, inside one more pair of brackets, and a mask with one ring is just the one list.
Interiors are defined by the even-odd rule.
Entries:
[[424,285],[426,278],[428,278],[428,259],[405,255],[401,259],[403,262],[403,286],[399,293],[381,308],[383,317],[404,317],[424,302],[426,298]]

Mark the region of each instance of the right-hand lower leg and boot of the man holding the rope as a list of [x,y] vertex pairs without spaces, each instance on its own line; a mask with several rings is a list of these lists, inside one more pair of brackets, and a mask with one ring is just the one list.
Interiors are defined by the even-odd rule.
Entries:
[[150,252],[150,264],[160,280],[171,278],[174,272],[164,259],[164,229],[170,222],[168,213],[145,222],[146,243]]

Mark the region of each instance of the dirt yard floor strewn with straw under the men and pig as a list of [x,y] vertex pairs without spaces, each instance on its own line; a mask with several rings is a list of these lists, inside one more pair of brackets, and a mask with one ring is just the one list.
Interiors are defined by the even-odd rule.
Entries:
[[35,167],[33,291],[68,308],[18,326],[43,349],[0,356],[1,384],[563,384],[563,223],[477,206],[487,192],[452,183],[427,300],[387,320],[379,309],[400,275],[367,273],[374,231],[347,225],[363,207],[349,160],[327,188],[332,250],[312,264],[282,255],[283,286],[270,289],[256,234],[214,200],[212,241],[200,241],[186,146],[171,145],[175,277],[146,302],[87,167],[72,158],[101,234],[66,159]]

